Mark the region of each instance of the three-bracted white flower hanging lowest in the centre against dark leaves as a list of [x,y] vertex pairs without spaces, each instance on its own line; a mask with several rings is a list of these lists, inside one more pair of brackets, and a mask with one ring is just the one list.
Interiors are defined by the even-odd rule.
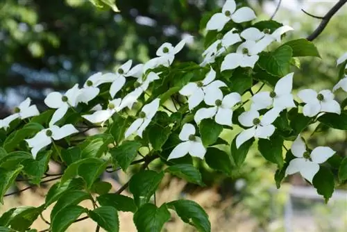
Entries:
[[195,136],[195,127],[192,124],[186,123],[183,125],[182,131],[178,135],[181,142],[172,151],[167,160],[172,158],[180,158],[189,154],[194,157],[203,159],[206,154],[206,149],[203,147],[201,138]]

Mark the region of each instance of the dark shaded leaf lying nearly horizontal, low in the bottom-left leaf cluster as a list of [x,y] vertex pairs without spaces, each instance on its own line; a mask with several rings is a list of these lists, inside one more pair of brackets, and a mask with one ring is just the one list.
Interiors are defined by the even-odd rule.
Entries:
[[96,197],[96,200],[101,206],[113,206],[119,211],[135,213],[137,210],[134,200],[121,194],[103,194]]

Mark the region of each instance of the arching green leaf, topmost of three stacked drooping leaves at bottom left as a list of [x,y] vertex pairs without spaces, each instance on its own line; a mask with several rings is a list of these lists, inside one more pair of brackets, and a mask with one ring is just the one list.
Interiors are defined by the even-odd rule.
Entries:
[[69,190],[81,190],[84,187],[83,179],[69,179],[65,183],[57,182],[49,189],[46,194],[46,202],[45,206],[48,207],[54,201],[58,201],[58,199]]

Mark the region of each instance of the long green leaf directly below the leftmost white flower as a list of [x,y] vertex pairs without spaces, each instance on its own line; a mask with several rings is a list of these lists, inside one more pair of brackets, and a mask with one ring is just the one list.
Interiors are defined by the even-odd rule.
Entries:
[[10,152],[13,151],[24,139],[29,138],[31,135],[43,130],[44,127],[41,124],[29,122],[22,129],[14,131],[11,133],[5,142],[3,142],[3,148]]

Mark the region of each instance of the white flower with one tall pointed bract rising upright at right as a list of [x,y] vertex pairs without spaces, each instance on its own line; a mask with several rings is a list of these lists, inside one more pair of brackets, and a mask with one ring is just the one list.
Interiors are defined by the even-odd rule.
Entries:
[[273,108],[284,110],[285,108],[296,107],[294,97],[291,94],[293,88],[294,72],[280,78],[275,85],[273,92],[259,92],[252,97],[251,108],[261,110],[273,105]]

